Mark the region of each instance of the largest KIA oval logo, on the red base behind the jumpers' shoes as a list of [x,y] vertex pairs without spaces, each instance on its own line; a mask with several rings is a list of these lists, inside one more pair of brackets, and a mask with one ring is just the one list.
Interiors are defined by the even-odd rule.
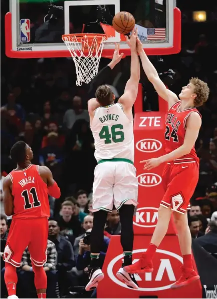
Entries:
[[[141,256],[142,252],[147,249],[133,250],[133,263]],[[139,253],[139,254],[138,254]],[[127,287],[116,277],[116,272],[120,267],[123,253],[113,258],[107,267],[108,276],[116,284]],[[157,259],[157,260],[156,260]],[[182,257],[174,252],[157,249],[154,257],[154,271],[152,273],[137,274],[135,279],[138,281],[139,288],[137,291],[157,291],[170,288],[181,274],[179,266],[183,264]],[[142,287],[145,286],[145,287]],[[147,287],[146,287],[147,286]]]

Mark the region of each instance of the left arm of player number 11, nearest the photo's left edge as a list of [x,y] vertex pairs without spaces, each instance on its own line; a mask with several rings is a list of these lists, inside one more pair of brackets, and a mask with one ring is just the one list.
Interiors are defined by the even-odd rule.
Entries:
[[7,216],[11,216],[14,213],[14,197],[12,195],[12,181],[8,175],[3,181],[3,203]]

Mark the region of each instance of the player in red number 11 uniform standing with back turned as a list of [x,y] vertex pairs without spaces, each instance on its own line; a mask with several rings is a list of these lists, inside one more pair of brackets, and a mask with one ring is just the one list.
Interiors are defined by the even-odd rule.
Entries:
[[48,194],[59,198],[60,188],[49,168],[31,164],[33,151],[25,142],[18,141],[13,145],[11,157],[17,163],[17,168],[3,182],[5,213],[13,215],[4,251],[8,298],[18,298],[16,267],[20,266],[27,246],[31,254],[38,297],[46,298],[47,275],[43,265],[47,260],[50,217]]

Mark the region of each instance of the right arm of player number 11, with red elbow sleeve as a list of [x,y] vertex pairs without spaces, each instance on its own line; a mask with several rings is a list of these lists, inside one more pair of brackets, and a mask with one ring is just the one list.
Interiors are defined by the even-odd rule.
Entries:
[[60,188],[53,179],[51,170],[47,166],[39,166],[39,172],[43,181],[48,185],[48,194],[55,198],[59,198],[61,195]]

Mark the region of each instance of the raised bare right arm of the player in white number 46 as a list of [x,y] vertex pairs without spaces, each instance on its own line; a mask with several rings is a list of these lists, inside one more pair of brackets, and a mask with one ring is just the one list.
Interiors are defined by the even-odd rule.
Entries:
[[137,29],[133,30],[130,40],[126,36],[127,45],[131,50],[130,79],[127,81],[124,94],[118,100],[124,110],[131,110],[135,103],[140,79],[140,64],[136,50]]

